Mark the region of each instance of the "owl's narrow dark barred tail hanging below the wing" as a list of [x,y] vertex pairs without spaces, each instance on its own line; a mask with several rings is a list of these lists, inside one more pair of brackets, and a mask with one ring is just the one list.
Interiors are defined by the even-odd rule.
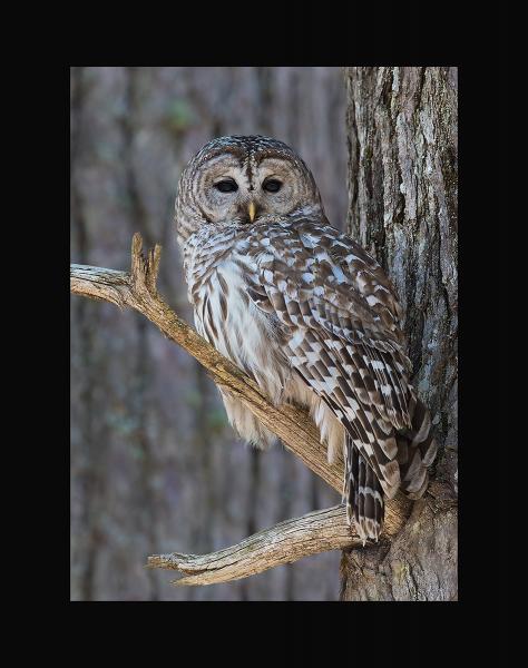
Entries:
[[349,524],[354,520],[363,546],[369,539],[378,541],[384,517],[383,489],[349,434],[345,443],[343,497],[346,500]]

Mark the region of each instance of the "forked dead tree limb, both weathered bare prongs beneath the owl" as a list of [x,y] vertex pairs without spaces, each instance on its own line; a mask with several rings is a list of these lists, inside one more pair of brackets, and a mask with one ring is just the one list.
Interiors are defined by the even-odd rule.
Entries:
[[[338,458],[329,464],[325,448],[320,443],[319,432],[306,411],[289,404],[273,405],[254,381],[179,318],[156,288],[160,246],[156,245],[147,255],[141,248],[143,239],[137,233],[133,238],[129,273],[70,265],[71,293],[110,302],[119,308],[130,307],[143,314],[164,336],[193,355],[217,385],[239,399],[309,469],[341,493],[343,460]],[[402,495],[389,501],[385,536],[400,531],[410,505]],[[358,544],[361,544],[359,537],[346,525],[341,505],[287,520],[212,554],[158,554],[150,557],[148,564],[187,573],[176,581],[178,584],[209,584],[244,578],[307,554]]]

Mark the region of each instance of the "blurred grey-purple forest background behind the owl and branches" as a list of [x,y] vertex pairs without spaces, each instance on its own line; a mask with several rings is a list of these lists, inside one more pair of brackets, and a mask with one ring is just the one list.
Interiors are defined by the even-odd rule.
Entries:
[[[179,174],[209,139],[271,135],[346,217],[342,68],[72,68],[71,262],[128,269],[140,232],[158,287],[193,323],[173,224]],[[133,312],[71,297],[71,599],[336,600],[340,552],[237,582],[174,588],[150,553],[211,552],[339,497],[282,446],[250,450],[185,351]]]

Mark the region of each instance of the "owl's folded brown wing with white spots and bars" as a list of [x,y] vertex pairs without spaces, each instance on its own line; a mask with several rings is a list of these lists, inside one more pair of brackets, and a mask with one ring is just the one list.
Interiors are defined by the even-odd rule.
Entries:
[[278,318],[291,363],[345,426],[391,498],[394,429],[411,426],[411,364],[401,308],[381,267],[351,238],[309,218],[255,227],[253,302]]

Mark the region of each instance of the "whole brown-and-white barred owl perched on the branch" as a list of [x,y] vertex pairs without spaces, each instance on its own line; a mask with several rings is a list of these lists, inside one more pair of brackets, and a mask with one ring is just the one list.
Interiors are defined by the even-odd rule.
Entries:
[[[436,455],[382,268],[331,227],[307,166],[268,137],[204,146],[179,179],[176,227],[197,331],[275,404],[309,410],[329,460],[343,451],[349,524],[378,540],[384,498],[421,497]],[[222,394],[243,439],[274,442]]]

